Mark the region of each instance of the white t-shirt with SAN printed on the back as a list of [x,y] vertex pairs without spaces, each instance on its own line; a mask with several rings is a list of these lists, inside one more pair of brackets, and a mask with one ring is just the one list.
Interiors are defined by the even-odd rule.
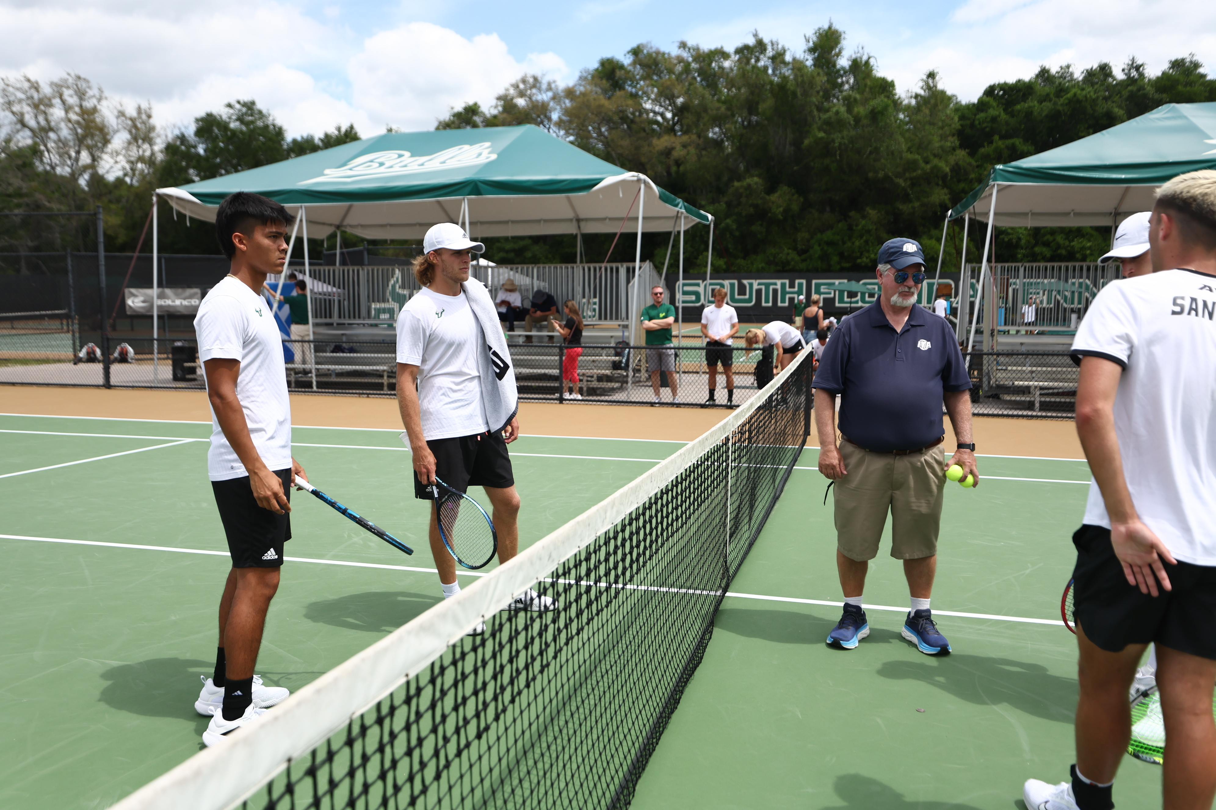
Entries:
[[[1167,270],[1108,284],[1073,353],[1125,368],[1115,395],[1124,477],[1141,520],[1175,559],[1216,566],[1216,277]],[[1110,527],[1097,482],[1085,522]]]

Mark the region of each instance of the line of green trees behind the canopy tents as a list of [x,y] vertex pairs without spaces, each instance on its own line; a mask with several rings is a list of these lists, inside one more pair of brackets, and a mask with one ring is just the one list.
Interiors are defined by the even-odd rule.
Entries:
[[[863,50],[845,51],[828,24],[790,49],[759,35],[733,50],[681,43],[638,45],[606,57],[568,86],[524,75],[488,108],[471,102],[438,129],[535,124],[609,163],[641,171],[716,217],[717,272],[855,271],[873,266],[893,236],[936,256],[946,209],[997,163],[1102,131],[1160,104],[1216,101],[1216,80],[1194,56],[1152,74],[1135,58],[1081,70],[1040,68],[962,102],[935,72],[900,94]],[[130,250],[151,189],[250,169],[358,140],[354,126],[288,138],[252,101],[161,134],[151,108],[111,106],[81,77],[0,85],[0,208],[69,209],[101,203],[107,244]],[[12,217],[6,217],[12,219]],[[167,253],[214,253],[207,227],[164,222]],[[52,222],[0,223],[0,250],[60,249]],[[1109,228],[1001,228],[1002,261],[1092,261]],[[612,234],[585,242],[602,259]],[[343,239],[358,244],[358,237]],[[704,268],[708,230],[686,237],[687,270]],[[945,256],[957,267],[961,228]],[[486,239],[500,264],[573,261],[573,237]],[[602,244],[601,244],[602,243]],[[666,259],[668,234],[647,234],[643,255]],[[979,239],[968,240],[975,259]],[[617,248],[621,250],[620,245]],[[631,253],[631,251],[630,251]],[[624,254],[621,254],[624,255]],[[620,256],[615,256],[620,257]]]

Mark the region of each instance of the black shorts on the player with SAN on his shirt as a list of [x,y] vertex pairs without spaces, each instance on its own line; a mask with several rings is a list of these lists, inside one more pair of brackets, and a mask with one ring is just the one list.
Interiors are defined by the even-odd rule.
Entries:
[[1216,567],[1178,561],[1165,565],[1173,590],[1158,596],[1127,584],[1110,545],[1110,529],[1082,526],[1073,534],[1073,611],[1085,635],[1108,652],[1156,641],[1180,652],[1216,659]]

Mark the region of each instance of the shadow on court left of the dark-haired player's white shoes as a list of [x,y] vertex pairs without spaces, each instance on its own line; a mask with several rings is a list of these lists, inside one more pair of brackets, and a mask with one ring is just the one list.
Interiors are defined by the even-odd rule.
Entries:
[[[101,673],[111,681],[97,696],[111,708],[148,718],[179,718],[207,723],[195,712],[199,675],[212,674],[214,661],[195,658],[151,658],[119,664]],[[202,733],[202,731],[199,731]]]

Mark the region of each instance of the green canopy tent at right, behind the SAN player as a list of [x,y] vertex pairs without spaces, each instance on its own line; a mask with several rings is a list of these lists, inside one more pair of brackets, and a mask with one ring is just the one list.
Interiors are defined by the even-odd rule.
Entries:
[[[1153,208],[1156,188],[1171,177],[1216,169],[1216,102],[1164,104],[1139,118],[1054,149],[992,166],[987,180],[946,214],[963,217],[966,262],[969,217],[987,222],[979,295],[987,272],[992,228],[1110,226]],[[942,232],[945,239],[945,231]],[[939,261],[939,273],[941,264]],[[962,296],[969,285],[961,285]],[[966,323],[967,301],[959,321]],[[979,301],[972,315],[975,339]]]

